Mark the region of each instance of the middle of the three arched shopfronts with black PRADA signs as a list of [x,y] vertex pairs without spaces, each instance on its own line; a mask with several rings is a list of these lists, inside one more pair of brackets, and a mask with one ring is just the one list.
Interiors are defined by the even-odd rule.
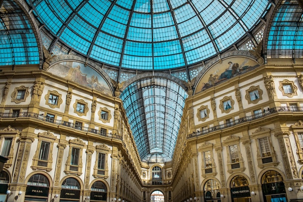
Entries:
[[79,202],[80,183],[73,177],[66,178],[61,185],[60,202]]

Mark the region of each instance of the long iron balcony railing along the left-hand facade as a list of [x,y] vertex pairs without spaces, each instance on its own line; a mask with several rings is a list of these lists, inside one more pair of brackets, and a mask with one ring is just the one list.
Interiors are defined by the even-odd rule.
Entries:
[[98,129],[90,128],[90,127],[84,127],[84,126],[79,127],[78,124],[76,125],[72,122],[66,122],[66,121],[57,120],[57,119],[49,119],[49,116],[44,116],[43,114],[37,114],[37,113],[33,113],[33,112],[20,112],[18,114],[18,116],[16,116],[15,113],[0,113],[0,118],[33,118],[33,119],[42,120],[44,122],[48,122],[48,123],[52,123],[52,124],[64,125],[64,126],[67,126],[70,128],[74,128],[76,130],[90,132],[90,133],[94,133],[94,134],[108,137],[108,138],[122,140],[122,137],[117,134],[104,133],[104,130],[98,130]]

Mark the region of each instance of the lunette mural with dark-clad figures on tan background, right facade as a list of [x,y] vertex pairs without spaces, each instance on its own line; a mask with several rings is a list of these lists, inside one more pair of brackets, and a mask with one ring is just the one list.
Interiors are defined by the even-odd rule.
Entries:
[[205,72],[199,81],[195,93],[210,88],[226,79],[232,78],[244,72],[260,66],[256,61],[243,57],[234,57],[214,64]]

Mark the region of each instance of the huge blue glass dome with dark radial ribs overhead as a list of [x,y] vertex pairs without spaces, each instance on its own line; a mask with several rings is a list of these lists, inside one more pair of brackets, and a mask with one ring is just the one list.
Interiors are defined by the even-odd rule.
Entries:
[[[58,41],[122,68],[184,67],[231,47],[267,0],[27,0]],[[51,50],[50,50],[51,51]]]

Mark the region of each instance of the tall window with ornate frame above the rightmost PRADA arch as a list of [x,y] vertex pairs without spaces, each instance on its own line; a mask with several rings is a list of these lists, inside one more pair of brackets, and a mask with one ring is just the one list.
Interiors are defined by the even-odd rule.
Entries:
[[96,162],[94,165],[93,176],[106,179],[108,178],[107,158],[110,149],[106,144],[100,144],[96,146],[96,151]]

